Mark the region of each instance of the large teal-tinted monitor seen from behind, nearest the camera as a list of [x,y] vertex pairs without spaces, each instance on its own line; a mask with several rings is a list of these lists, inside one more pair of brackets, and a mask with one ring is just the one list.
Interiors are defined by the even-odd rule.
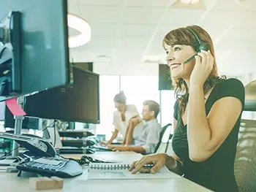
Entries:
[[67,31],[67,0],[1,0],[0,101],[70,82]]

